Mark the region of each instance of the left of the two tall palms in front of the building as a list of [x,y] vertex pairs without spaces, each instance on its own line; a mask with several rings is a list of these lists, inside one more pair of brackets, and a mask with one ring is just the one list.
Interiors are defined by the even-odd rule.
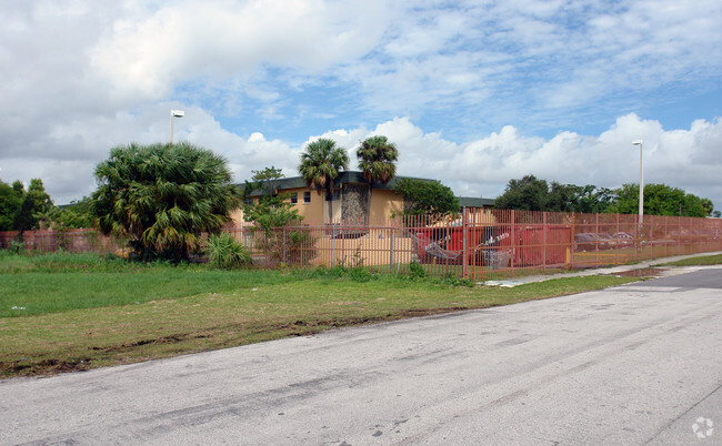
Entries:
[[345,149],[335,145],[335,141],[321,138],[310,142],[301,153],[299,173],[311,187],[317,187],[319,194],[325,191],[329,200],[329,219],[333,216],[331,199],[333,196],[333,180],[340,170],[349,169],[349,154]]

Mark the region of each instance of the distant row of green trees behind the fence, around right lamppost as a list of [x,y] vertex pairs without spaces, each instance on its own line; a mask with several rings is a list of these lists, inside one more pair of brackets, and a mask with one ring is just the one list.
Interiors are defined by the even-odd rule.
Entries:
[[[534,175],[527,175],[510,180],[504,193],[494,201],[494,206],[520,211],[635,214],[639,212],[639,184],[608,189],[555,181],[548,183]],[[710,199],[666,184],[645,184],[644,214],[719,217],[720,211],[714,211]]]

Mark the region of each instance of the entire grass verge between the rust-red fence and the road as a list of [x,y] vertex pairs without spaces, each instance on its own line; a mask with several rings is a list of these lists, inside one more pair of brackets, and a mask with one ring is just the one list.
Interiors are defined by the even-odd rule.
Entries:
[[598,290],[635,277],[514,288],[368,270],[215,271],[97,255],[0,253],[0,376],[52,374]]

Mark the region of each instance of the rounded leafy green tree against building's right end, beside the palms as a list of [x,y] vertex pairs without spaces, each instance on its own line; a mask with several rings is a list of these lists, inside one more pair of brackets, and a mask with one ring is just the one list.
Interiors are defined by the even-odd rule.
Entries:
[[394,191],[403,196],[404,215],[428,215],[433,223],[459,212],[459,199],[439,181],[401,179]]

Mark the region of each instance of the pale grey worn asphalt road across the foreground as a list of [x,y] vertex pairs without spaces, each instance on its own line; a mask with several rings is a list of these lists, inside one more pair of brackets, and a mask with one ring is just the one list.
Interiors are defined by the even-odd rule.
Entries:
[[722,444],[720,352],[709,267],[4,381],[0,444]]

